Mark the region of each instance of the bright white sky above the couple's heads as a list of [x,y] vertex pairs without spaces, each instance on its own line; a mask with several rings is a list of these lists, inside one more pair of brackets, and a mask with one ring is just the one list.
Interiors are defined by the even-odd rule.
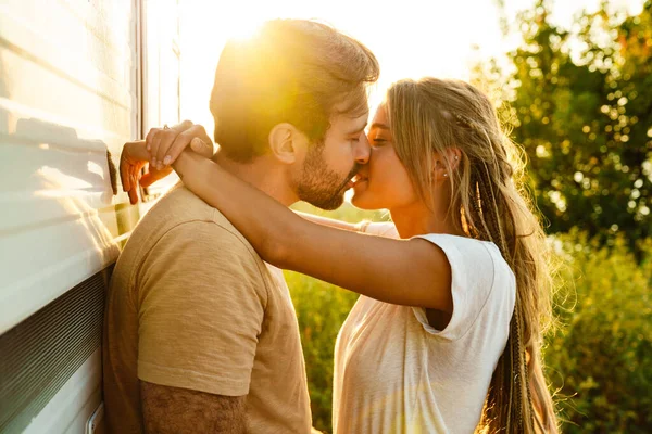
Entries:
[[[383,90],[401,78],[436,76],[468,79],[479,59],[500,58],[521,41],[517,31],[504,36],[500,17],[513,22],[535,0],[180,0],[181,118],[213,130],[209,98],[220,52],[229,37],[251,34],[260,23],[278,17],[315,18],[366,44],[380,63],[380,80],[372,107]],[[569,28],[582,9],[600,0],[554,0],[552,20]],[[614,8],[640,12],[643,0],[611,0]]]

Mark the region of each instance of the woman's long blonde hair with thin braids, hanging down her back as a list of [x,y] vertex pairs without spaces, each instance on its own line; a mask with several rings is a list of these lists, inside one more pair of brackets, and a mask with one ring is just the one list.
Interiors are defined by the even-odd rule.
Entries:
[[447,162],[449,212],[469,237],[496,243],[516,276],[510,336],[477,432],[556,433],[541,359],[552,278],[543,229],[525,190],[523,152],[503,132],[487,95],[467,82],[402,80],[388,90],[386,104],[396,152],[426,203],[435,194],[432,154],[461,151],[455,168]]

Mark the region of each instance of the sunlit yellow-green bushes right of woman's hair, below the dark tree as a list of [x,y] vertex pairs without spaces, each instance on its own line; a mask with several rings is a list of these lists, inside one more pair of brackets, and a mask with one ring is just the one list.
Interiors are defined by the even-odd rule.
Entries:
[[586,234],[557,238],[566,260],[565,295],[549,336],[546,365],[564,433],[652,432],[652,243],[637,265],[625,242]]

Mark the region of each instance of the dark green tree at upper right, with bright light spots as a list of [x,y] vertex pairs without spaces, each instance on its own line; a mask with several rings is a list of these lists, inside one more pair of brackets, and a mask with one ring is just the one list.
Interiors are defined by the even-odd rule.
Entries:
[[584,13],[570,29],[550,20],[547,1],[522,13],[523,43],[474,69],[510,108],[502,117],[523,144],[550,232],[580,227],[601,242],[651,234],[652,1],[637,16]]

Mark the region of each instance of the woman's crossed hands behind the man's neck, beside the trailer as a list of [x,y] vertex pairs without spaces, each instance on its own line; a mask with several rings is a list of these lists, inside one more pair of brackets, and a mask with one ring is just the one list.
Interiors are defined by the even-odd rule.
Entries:
[[[146,140],[125,143],[120,157],[120,176],[129,202],[138,203],[138,183],[149,187],[168,176],[172,173],[170,165],[189,145],[204,157],[213,155],[213,144],[205,129],[190,120],[172,128],[152,128]],[[148,173],[141,175],[148,162]]]

